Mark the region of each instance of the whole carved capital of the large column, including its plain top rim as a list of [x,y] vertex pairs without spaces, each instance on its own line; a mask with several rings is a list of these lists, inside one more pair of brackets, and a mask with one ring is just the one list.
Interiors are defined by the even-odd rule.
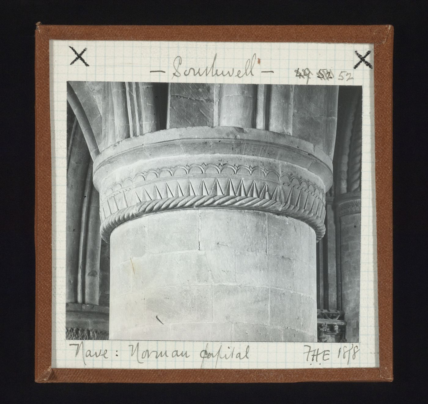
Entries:
[[106,241],[128,220],[190,208],[267,211],[308,223],[318,239],[324,235],[331,161],[303,140],[257,129],[180,128],[113,148],[94,162]]

